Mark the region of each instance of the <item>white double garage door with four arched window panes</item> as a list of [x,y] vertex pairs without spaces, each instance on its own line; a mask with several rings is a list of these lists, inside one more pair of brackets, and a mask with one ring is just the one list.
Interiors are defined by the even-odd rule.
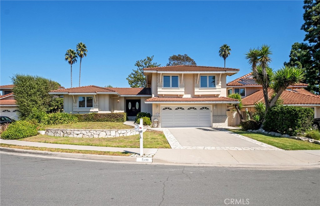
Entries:
[[211,127],[210,106],[162,106],[161,127]]

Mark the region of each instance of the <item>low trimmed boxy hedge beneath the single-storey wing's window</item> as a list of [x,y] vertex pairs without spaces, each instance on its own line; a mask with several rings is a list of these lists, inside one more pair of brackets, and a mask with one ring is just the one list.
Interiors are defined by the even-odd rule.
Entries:
[[88,114],[73,114],[78,118],[79,122],[125,122],[127,113],[88,113]]

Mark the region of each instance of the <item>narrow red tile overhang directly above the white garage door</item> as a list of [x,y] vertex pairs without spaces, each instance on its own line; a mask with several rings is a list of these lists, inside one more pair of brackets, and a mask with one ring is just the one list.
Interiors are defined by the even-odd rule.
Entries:
[[228,97],[152,97],[145,103],[239,103],[238,100]]

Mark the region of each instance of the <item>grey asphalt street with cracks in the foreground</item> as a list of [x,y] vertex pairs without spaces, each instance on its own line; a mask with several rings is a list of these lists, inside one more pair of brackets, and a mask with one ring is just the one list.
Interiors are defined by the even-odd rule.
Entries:
[[320,170],[120,164],[1,154],[5,205],[320,205]]

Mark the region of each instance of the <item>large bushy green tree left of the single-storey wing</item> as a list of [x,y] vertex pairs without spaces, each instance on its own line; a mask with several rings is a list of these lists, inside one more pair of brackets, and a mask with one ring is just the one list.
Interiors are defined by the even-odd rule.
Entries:
[[54,97],[49,95],[50,90],[58,89],[58,82],[39,76],[15,74],[12,77],[13,92],[17,105],[19,105],[19,118],[25,119],[32,111],[50,111]]

